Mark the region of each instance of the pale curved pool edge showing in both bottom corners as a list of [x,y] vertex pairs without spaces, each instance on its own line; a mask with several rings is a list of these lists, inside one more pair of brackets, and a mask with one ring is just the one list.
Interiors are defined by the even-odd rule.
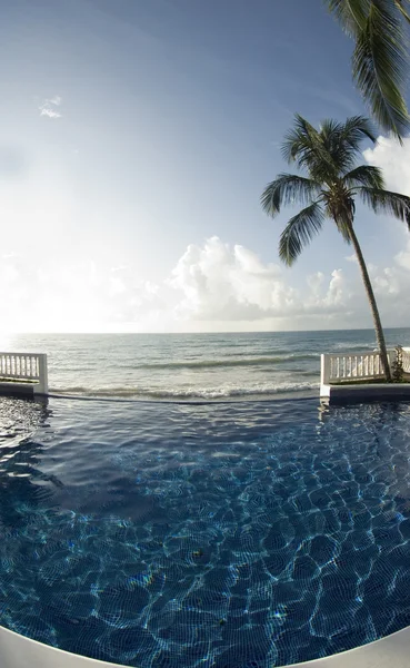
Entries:
[[[410,627],[386,638],[356,647],[330,657],[286,668],[409,668]],[[38,642],[16,631],[0,627],[1,668],[118,668],[123,664],[111,664],[74,655],[49,645]],[[284,667],[283,667],[284,668]]]

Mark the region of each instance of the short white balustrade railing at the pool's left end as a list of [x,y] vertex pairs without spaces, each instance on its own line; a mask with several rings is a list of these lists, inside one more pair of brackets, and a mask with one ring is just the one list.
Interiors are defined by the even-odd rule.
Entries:
[[33,383],[34,394],[48,394],[47,355],[0,352],[1,380]]

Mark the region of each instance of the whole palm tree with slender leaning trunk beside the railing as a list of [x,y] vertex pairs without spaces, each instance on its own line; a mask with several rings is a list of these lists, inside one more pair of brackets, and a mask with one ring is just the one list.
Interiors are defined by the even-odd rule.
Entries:
[[366,138],[376,143],[370,121],[361,116],[348,118],[343,124],[326,120],[317,130],[297,115],[293,129],[284,138],[282,155],[289,164],[296,163],[306,176],[279,174],[263,190],[261,204],[271,217],[277,216],[282,206],[297,200],[307,205],[289,220],[280,237],[279,256],[288,266],[320,232],[326,218],[332,219],[343,239],[352,244],[373,316],[384,374],[391,381],[380,315],[353,227],[354,202],[359,197],[376,214],[391,214],[410,229],[410,197],[386,190],[378,167],[357,166],[360,144]]

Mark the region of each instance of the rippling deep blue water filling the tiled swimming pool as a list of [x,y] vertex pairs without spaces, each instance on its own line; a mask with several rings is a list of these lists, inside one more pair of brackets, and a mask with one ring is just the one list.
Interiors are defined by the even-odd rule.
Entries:
[[0,401],[0,623],[267,668],[410,625],[410,406]]

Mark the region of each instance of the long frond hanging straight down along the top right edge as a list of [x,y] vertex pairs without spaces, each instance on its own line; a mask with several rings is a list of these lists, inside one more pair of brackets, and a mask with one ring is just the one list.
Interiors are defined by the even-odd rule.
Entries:
[[357,35],[353,79],[374,118],[399,140],[410,121],[403,92],[408,51],[402,20],[391,0],[372,0],[364,27]]

